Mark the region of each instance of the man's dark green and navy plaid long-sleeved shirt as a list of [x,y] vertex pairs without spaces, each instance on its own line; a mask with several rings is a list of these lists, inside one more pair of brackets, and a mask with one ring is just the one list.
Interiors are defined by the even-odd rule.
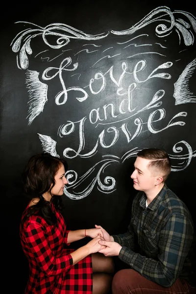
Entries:
[[147,196],[139,192],[125,234],[112,235],[122,245],[119,258],[148,280],[170,287],[178,277],[188,279],[188,253],[194,224],[186,205],[165,184],[146,207]]

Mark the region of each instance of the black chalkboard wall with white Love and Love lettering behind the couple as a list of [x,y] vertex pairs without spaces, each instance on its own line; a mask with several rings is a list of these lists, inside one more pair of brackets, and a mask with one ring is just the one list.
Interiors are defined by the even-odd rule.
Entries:
[[162,148],[172,159],[167,184],[196,223],[196,9],[170,2],[32,2],[1,11],[6,293],[23,293],[28,276],[21,173],[33,154],[68,162],[68,228],[100,224],[112,234],[130,220],[137,152]]

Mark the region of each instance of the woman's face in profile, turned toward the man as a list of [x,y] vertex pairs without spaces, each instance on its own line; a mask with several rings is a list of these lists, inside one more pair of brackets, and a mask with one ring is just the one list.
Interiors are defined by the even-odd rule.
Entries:
[[57,195],[57,196],[63,195],[63,189],[64,189],[65,185],[68,184],[68,181],[67,181],[67,179],[65,177],[65,169],[64,169],[63,165],[61,165],[60,169],[56,173],[56,175],[54,177],[54,180],[55,180],[55,185],[50,191],[51,196],[53,196],[53,195]]

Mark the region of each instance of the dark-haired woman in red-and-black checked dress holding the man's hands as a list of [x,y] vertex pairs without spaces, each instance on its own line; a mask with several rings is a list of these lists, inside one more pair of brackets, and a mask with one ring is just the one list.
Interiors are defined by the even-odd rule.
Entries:
[[[48,153],[32,156],[23,173],[25,193],[31,198],[21,220],[20,237],[29,262],[25,294],[104,294],[113,273],[103,248],[100,228],[66,230],[62,217],[67,164]],[[89,236],[92,240],[74,250],[70,243]],[[92,254],[96,253],[96,254]],[[92,255],[91,255],[92,254]]]

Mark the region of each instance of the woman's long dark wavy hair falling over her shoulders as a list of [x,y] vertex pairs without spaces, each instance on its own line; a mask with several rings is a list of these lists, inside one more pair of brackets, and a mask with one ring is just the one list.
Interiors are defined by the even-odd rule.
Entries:
[[[50,202],[45,200],[42,195],[50,192],[55,185],[54,176],[61,165],[67,171],[66,161],[49,153],[33,155],[29,159],[22,174],[25,195],[30,199],[39,198],[39,201],[36,201],[34,205],[28,208],[26,218],[36,214],[42,216],[49,225],[56,224],[56,216],[51,210]],[[52,201],[56,210],[62,212],[63,203],[61,196],[54,195],[50,201]]]

